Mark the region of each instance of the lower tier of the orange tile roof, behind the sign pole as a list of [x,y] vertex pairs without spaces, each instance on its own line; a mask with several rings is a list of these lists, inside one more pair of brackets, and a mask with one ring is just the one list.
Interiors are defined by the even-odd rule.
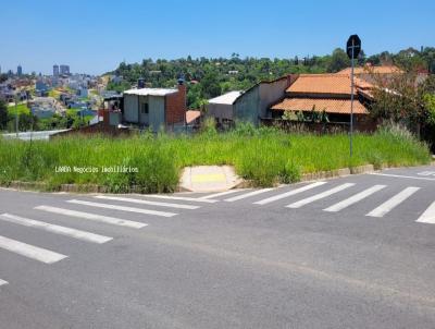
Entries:
[[[316,111],[325,110],[326,113],[350,114],[350,99],[336,98],[286,98],[274,105],[271,109],[284,111],[311,111],[315,106]],[[368,109],[358,100],[353,102],[353,113],[366,114]]]

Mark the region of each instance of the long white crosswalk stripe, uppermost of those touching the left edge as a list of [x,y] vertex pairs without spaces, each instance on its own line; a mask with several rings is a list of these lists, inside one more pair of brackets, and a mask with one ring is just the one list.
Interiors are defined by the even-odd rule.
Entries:
[[23,217],[14,216],[11,214],[0,215],[0,220],[12,222],[12,223],[20,224],[20,226],[29,227],[29,228],[40,229],[40,230],[48,231],[51,233],[57,233],[57,234],[74,237],[74,239],[86,241],[86,242],[98,243],[98,244],[105,243],[113,239],[113,237],[99,235],[99,234],[95,234],[95,233],[89,233],[89,232],[85,232],[85,231],[80,231],[80,230],[54,226],[54,224],[50,224],[50,223],[47,223],[44,221],[23,218]]

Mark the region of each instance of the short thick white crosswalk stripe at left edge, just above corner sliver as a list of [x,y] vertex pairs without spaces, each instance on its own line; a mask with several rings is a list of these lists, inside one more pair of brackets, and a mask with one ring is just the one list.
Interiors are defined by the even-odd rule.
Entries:
[[0,248],[45,264],[53,264],[67,257],[65,255],[33,246],[16,240],[8,239],[2,235],[0,235]]

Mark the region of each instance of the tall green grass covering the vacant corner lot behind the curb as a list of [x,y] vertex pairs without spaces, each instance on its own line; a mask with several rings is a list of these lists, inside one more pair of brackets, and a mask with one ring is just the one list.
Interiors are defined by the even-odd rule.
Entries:
[[[195,136],[159,134],[128,138],[62,137],[51,142],[0,139],[0,183],[42,181],[50,190],[61,184],[98,184],[111,192],[137,186],[142,193],[172,192],[181,170],[197,164],[233,164],[237,173],[259,186],[289,183],[303,173],[373,163],[415,166],[430,162],[426,145],[400,130],[357,134],[349,158],[345,134],[285,134],[274,129],[241,126],[217,134],[213,127]],[[55,173],[55,168],[137,168],[130,173]]]

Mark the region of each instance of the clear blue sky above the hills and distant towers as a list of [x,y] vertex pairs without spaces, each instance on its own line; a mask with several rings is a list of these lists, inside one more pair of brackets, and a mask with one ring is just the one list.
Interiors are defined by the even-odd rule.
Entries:
[[53,64],[102,74],[120,62],[187,57],[294,58],[435,47],[435,1],[14,0],[0,3],[2,72]]

